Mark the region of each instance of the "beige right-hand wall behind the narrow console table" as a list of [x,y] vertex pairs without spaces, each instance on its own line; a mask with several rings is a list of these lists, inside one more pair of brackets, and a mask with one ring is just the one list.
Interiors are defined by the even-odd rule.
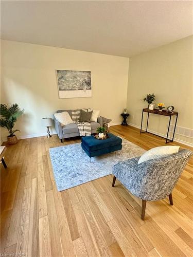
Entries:
[[[192,44],[193,36],[150,50],[130,58],[127,107],[129,123],[141,124],[143,98],[156,95],[155,103],[173,105],[179,112],[176,139],[192,143],[192,138],[180,134],[192,133]],[[152,115],[149,128],[166,133],[168,118]],[[187,129],[188,128],[188,129]],[[190,129],[190,130],[189,130]]]

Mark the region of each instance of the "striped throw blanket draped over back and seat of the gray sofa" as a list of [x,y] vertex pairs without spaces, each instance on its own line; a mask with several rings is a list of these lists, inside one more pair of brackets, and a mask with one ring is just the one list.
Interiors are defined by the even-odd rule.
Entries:
[[[87,112],[87,109],[85,109]],[[79,122],[80,118],[80,109],[72,111],[72,120],[77,124],[80,136],[91,136],[91,124],[89,122]]]

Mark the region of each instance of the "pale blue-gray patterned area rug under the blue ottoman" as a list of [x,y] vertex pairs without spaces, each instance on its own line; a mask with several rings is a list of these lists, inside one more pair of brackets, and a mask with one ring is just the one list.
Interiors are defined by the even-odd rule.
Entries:
[[122,150],[92,157],[82,152],[81,143],[49,149],[58,191],[73,188],[112,174],[112,167],[145,153],[145,150],[122,138]]

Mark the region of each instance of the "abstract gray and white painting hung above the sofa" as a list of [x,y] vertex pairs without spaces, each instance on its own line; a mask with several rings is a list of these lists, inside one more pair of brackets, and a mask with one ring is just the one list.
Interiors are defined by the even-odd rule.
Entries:
[[59,98],[92,97],[91,71],[56,70]]

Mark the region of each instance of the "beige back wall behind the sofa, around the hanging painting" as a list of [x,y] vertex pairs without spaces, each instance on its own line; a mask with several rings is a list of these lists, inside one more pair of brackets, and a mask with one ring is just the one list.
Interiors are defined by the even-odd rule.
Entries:
[[[100,115],[121,121],[126,107],[129,58],[40,46],[12,41],[1,42],[1,102],[18,103],[25,109],[16,128],[18,137],[41,134],[41,118],[57,109],[100,109]],[[91,70],[92,97],[59,99],[56,69]],[[53,131],[53,129],[52,129]],[[3,129],[5,140],[7,131]]]

